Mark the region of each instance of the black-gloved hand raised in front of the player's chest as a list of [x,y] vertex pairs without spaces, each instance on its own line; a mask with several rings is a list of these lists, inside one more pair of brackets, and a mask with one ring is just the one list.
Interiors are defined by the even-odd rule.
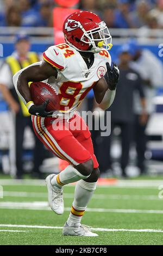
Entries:
[[115,90],[119,80],[120,70],[118,69],[115,63],[113,63],[113,66],[111,69],[109,63],[106,62],[106,68],[107,68],[107,72],[104,75],[106,83],[108,84],[108,87],[110,90]]

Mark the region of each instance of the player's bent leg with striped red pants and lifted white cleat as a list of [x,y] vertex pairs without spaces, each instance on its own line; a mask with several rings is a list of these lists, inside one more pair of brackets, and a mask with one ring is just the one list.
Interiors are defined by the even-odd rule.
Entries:
[[46,178],[49,205],[57,214],[62,214],[64,205],[62,187],[80,179],[86,179],[93,170],[90,153],[73,137],[69,130],[55,131],[52,119],[33,117],[36,135],[58,157],[72,163],[59,175],[51,174]]

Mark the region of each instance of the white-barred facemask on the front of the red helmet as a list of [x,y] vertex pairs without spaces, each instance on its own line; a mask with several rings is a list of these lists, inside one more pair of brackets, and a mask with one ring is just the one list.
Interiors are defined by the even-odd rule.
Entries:
[[85,44],[89,44],[89,46],[92,45],[91,50],[87,50],[87,52],[110,50],[112,47],[112,38],[105,22],[101,21],[98,25],[98,28],[93,28],[90,31],[85,31],[83,27],[80,27],[84,32],[80,41],[85,42]]

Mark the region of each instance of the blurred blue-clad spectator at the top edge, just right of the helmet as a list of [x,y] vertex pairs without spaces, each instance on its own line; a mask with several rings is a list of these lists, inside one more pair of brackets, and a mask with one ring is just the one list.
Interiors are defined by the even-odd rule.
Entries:
[[133,28],[129,15],[129,0],[118,0],[118,9],[115,11],[115,26],[117,28]]

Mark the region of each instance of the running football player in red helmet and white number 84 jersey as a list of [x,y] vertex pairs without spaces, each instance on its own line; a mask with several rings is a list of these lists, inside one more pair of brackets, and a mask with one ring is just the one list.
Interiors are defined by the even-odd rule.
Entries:
[[[111,35],[96,14],[89,11],[71,14],[64,22],[63,33],[65,44],[49,47],[43,53],[44,61],[17,72],[13,81],[17,94],[32,114],[36,135],[56,156],[70,163],[60,174],[46,178],[48,202],[56,214],[64,212],[63,187],[77,182],[63,234],[97,236],[82,225],[81,220],[96,190],[98,162],[93,153],[91,133],[75,111],[92,88],[97,103],[102,103],[104,109],[108,108],[114,100],[119,70],[115,64],[110,68]],[[62,116],[60,123],[64,129],[53,129],[56,117],[46,111],[47,102],[36,106],[30,96],[28,82],[44,81],[49,77],[55,77],[59,88],[58,115]],[[74,118],[82,129],[72,129]]]

